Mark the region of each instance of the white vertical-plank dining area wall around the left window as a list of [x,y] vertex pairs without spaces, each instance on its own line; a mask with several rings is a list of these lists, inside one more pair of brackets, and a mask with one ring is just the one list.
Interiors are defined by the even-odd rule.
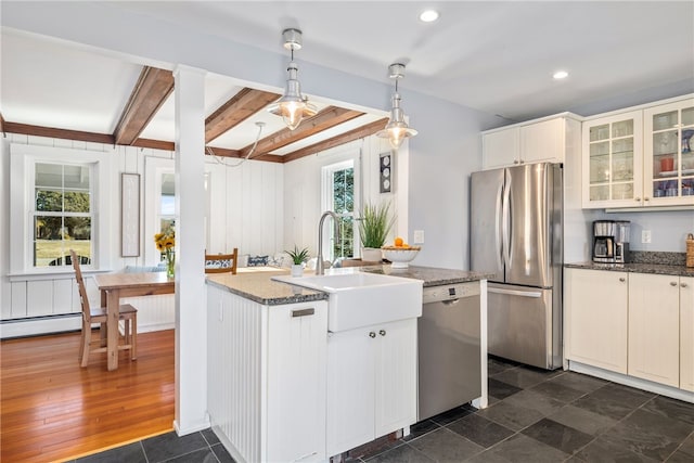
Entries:
[[[2,191],[3,217],[0,223],[0,318],[2,320],[74,313],[79,311],[79,298],[75,290],[72,272],[66,274],[30,275],[26,278],[8,275],[10,270],[9,227],[10,217],[10,182],[9,144],[28,144],[40,146],[68,147],[77,151],[111,152],[112,145],[86,143],[44,137],[28,137],[8,133],[0,142],[0,187]],[[117,156],[117,168],[110,172],[111,191],[106,197],[111,203],[108,210],[112,231],[104,236],[111,250],[103,260],[111,262],[102,270],[119,271],[126,266],[153,266],[158,261],[158,253],[154,246],[154,208],[158,206],[158,196],[149,197],[154,189],[149,189],[147,158],[159,159],[158,164],[170,164],[174,168],[174,153],[160,150],[140,149],[133,146],[116,146],[113,152]],[[224,159],[222,163],[239,164],[239,159]],[[150,163],[152,164],[152,163]],[[210,223],[208,249],[210,253],[222,253],[239,247],[241,254],[274,255],[283,249],[283,171],[279,163],[249,160],[237,167],[228,167],[214,158],[206,159],[205,171],[210,176]],[[140,188],[140,256],[120,256],[120,173],[139,173]],[[202,259],[202,256],[201,256]],[[89,271],[85,272],[89,274]],[[12,281],[11,281],[12,280]],[[97,305],[99,294],[87,278],[90,300]],[[72,291],[70,291],[72,290]],[[37,299],[39,297],[39,299]]]

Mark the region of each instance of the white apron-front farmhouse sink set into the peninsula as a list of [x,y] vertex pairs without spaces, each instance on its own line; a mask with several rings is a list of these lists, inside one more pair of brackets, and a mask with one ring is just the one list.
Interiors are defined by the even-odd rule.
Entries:
[[352,330],[422,314],[422,282],[376,273],[277,275],[272,280],[329,293],[327,330]]

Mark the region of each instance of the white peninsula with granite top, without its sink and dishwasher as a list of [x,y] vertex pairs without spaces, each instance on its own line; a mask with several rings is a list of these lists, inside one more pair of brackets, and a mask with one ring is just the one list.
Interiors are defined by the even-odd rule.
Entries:
[[[479,272],[387,265],[332,272],[400,276],[423,287],[478,282],[486,295],[487,275]],[[400,429],[408,434],[417,422],[417,319],[408,314],[333,333],[329,293],[271,276],[207,278],[208,412],[232,456],[326,461],[381,436]],[[421,303],[415,301],[420,308]],[[480,332],[486,334],[485,296],[479,306]],[[483,335],[480,407],[487,400],[486,356]],[[342,381],[349,382],[351,394],[336,394]],[[336,396],[340,403],[332,402]],[[338,416],[335,410],[342,411]]]

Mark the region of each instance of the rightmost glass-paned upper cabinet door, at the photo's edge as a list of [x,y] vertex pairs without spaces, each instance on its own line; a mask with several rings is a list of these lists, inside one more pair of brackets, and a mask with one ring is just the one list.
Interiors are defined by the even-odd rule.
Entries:
[[645,110],[644,140],[652,203],[694,204],[694,99]]

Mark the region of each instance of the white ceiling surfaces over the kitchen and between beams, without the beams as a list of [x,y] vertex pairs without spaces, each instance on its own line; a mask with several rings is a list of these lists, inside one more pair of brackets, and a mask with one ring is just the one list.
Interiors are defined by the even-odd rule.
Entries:
[[[639,95],[694,91],[694,1],[117,1],[107,7],[273,52],[282,52],[282,29],[298,27],[300,61],[377,81],[387,81],[388,64],[403,62],[406,111],[408,91],[513,120],[581,114],[619,98],[638,104]],[[440,12],[438,22],[417,20],[428,7]],[[1,60],[5,120],[100,133],[113,132],[140,72],[113,55],[5,28]],[[555,81],[552,74],[560,68],[569,77]],[[208,76],[208,112],[239,89],[229,78]],[[310,95],[310,89],[303,90]],[[172,106],[167,102],[141,137],[172,140]],[[256,120],[210,144],[253,143]],[[264,121],[264,134],[282,127],[271,115]]]

